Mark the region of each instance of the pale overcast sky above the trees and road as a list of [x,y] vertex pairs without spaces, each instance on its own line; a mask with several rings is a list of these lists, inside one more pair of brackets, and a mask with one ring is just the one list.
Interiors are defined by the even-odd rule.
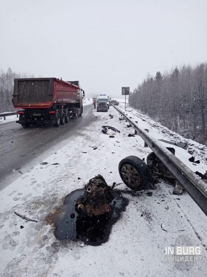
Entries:
[[207,61],[206,0],[1,1],[0,68],[121,98],[149,72]]

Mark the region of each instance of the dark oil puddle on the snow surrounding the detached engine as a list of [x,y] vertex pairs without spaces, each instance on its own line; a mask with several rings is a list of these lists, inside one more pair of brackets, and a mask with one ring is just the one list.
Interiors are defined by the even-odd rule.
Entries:
[[[76,189],[68,194],[63,206],[46,217],[46,221],[55,227],[54,235],[60,241],[83,241],[87,245],[98,246],[105,243],[110,236],[111,228],[119,219],[128,205],[128,199],[119,191],[114,191],[114,200],[111,202],[110,214],[94,218],[81,218],[73,209],[73,202],[84,192]],[[70,218],[71,212],[75,213]]]

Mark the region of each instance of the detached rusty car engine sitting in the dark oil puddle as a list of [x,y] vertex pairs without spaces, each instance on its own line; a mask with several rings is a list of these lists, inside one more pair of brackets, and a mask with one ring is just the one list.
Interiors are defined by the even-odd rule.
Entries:
[[75,211],[83,217],[110,213],[109,203],[113,200],[113,186],[107,185],[100,174],[85,185],[85,192],[75,202]]

